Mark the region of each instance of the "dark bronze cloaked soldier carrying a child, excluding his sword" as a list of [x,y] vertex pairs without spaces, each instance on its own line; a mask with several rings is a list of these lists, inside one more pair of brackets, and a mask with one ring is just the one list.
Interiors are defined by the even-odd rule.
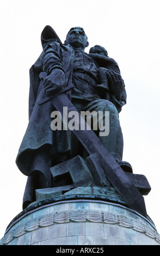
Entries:
[[[95,133],[116,162],[122,162],[123,153],[119,113],[126,104],[126,91],[118,64],[101,46],[85,53],[89,43],[81,27],[71,28],[62,44],[46,26],[41,42],[43,51],[30,68],[29,123],[16,159],[21,172],[28,176],[23,209],[34,202],[36,189],[57,186],[51,167],[77,155],[88,156],[70,130],[51,129],[51,113],[56,109],[50,97],[64,88],[72,86],[68,97],[78,112],[109,111],[109,135],[99,136],[100,130]],[[43,100],[46,102],[40,104]],[[58,185],[66,184],[61,180]]]

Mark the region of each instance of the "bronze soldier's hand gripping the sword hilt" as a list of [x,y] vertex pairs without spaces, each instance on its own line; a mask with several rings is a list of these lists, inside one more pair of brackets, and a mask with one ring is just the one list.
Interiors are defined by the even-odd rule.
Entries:
[[45,78],[43,84],[46,96],[53,95],[59,90],[62,90],[65,86],[65,74],[63,70],[53,69],[51,74]]

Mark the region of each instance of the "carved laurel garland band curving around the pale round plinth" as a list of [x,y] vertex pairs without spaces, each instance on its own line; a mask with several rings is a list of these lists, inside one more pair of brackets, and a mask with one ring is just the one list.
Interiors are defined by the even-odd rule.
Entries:
[[55,212],[29,220],[15,229],[10,229],[1,239],[0,245],[7,245],[13,239],[39,228],[70,222],[116,224],[143,233],[160,243],[160,236],[157,231],[152,229],[150,224],[143,220],[136,220],[125,215],[113,214],[112,212],[106,211],[75,210]]

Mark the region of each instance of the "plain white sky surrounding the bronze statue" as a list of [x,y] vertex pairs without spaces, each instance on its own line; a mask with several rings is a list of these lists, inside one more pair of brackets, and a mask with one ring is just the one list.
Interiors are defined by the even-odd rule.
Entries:
[[27,177],[15,159],[28,124],[29,68],[42,51],[40,34],[46,25],[63,42],[71,27],[83,27],[86,51],[102,45],[118,62],[127,91],[120,113],[123,160],[149,181],[146,210],[160,232],[159,0],[0,0],[0,19],[0,239],[22,211]]

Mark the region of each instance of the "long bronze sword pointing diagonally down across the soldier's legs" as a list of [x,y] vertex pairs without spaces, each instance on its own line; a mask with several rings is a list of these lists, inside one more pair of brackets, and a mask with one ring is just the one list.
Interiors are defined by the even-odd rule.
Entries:
[[[76,111],[78,113],[79,119],[75,120],[76,125],[79,126],[78,130],[72,130],[75,133],[76,137],[82,143],[83,147],[88,151],[88,153],[99,155],[104,173],[110,183],[114,186],[115,190],[124,198],[126,204],[133,210],[138,211],[142,215],[147,215],[144,198],[139,192],[138,188],[133,185],[130,178],[124,170],[121,169],[119,164],[115,161],[114,157],[108,152],[104,147],[103,143],[100,141],[99,137],[96,136],[95,132],[90,129],[90,126],[87,122],[81,118],[81,114],[77,111],[75,106],[71,103],[69,98],[66,96],[66,92],[69,89],[65,88],[62,92],[58,92],[56,95],[48,97],[45,100],[38,102],[39,105],[51,101],[52,105],[61,113],[63,118],[63,107],[67,107],[68,112]],[[68,118],[70,120],[71,118]],[[83,127],[86,127],[85,130],[81,130],[81,124],[84,122]],[[69,122],[68,122],[69,123]],[[77,126],[76,126],[77,127]]]

